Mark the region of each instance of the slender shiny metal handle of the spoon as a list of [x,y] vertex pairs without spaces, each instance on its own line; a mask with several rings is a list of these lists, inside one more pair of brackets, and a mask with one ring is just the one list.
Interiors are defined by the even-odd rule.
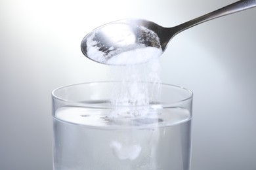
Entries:
[[177,33],[184,31],[185,29],[188,29],[190,27],[193,27],[194,25],[202,24],[203,22],[207,22],[209,20],[213,20],[221,16],[232,14],[234,12],[239,12],[241,10],[250,9],[253,7],[256,7],[256,0],[237,1],[236,3],[232,3],[230,5],[227,5],[226,7],[223,7],[221,9],[215,10],[213,12],[195,18],[194,20],[190,20],[181,25],[177,25]]

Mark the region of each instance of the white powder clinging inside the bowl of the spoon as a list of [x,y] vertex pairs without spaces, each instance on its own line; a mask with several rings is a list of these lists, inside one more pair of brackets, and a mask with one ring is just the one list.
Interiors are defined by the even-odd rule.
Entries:
[[[118,25],[122,29],[117,33],[113,33],[111,26],[106,27],[108,31],[106,35],[112,34],[107,37],[107,42],[113,42],[113,46],[105,44],[104,38],[102,38],[104,35],[98,35],[97,31],[87,38],[88,58],[108,65],[133,65],[146,63],[152,58],[161,56],[163,51],[160,39],[154,31],[139,26],[137,27],[138,35],[134,35],[133,32],[127,30],[129,25]],[[113,29],[118,25],[113,25]]]

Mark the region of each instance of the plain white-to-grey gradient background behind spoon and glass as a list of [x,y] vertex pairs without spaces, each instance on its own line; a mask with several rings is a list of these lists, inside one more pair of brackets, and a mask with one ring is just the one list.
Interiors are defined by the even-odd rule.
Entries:
[[[171,27],[233,0],[0,0],[0,169],[52,169],[51,92],[109,80],[85,58],[99,25],[144,18]],[[256,169],[256,8],[212,20],[173,39],[163,82],[194,92],[192,170]]]

